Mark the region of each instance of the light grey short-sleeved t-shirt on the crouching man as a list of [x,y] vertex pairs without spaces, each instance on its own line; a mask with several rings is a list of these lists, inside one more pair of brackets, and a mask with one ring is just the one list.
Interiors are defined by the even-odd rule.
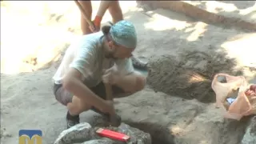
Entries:
[[134,72],[130,58],[118,60],[105,58],[102,37],[102,32],[87,34],[83,35],[78,42],[72,43],[54,74],[54,82],[61,84],[70,67],[82,74],[82,81],[89,87],[97,86],[102,81],[103,70],[110,69],[112,66],[117,66],[122,74]]

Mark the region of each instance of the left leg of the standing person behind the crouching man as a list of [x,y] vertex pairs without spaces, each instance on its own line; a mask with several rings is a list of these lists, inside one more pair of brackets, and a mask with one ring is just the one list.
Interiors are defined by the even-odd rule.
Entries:
[[[79,3],[82,5],[83,10],[86,11],[86,14],[91,19],[91,14],[92,14],[91,2],[90,1],[79,1]],[[86,22],[86,19],[83,18],[82,12],[81,12],[81,29],[82,29],[82,34],[92,33],[89,28],[89,24]]]

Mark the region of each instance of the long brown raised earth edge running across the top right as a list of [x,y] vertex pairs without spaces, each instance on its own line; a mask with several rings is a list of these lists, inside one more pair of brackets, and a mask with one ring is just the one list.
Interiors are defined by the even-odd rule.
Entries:
[[191,18],[199,19],[203,22],[209,22],[215,25],[223,24],[224,26],[234,26],[242,28],[244,30],[256,30],[256,24],[252,22],[246,22],[240,18],[227,18],[222,15],[210,13],[206,10],[202,10],[197,6],[193,6],[187,2],[182,1],[137,1],[139,6],[143,6],[150,9],[167,9],[173,10],[178,13],[186,14]]

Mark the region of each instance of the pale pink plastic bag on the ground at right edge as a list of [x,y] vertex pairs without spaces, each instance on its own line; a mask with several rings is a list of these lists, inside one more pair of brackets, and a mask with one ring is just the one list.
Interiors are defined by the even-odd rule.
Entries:
[[[218,82],[218,77],[226,78],[226,82]],[[225,118],[240,120],[243,116],[256,114],[256,93],[246,95],[246,91],[250,90],[250,85],[246,82],[246,78],[242,76],[231,76],[229,74],[216,74],[211,85],[216,94],[216,106],[224,108]],[[239,89],[239,90],[238,90]],[[234,98],[234,102],[228,103],[226,98],[230,94],[238,90],[238,95]]]

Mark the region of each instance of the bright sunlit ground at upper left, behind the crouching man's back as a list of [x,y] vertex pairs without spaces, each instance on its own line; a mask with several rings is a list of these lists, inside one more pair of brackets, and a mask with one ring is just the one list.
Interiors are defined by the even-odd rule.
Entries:
[[[98,1],[92,2],[93,18]],[[121,2],[122,11],[136,2]],[[106,12],[102,23],[112,18]],[[57,60],[60,51],[81,35],[80,11],[73,1],[1,2],[1,73],[30,72]],[[38,65],[26,62],[37,58]]]

